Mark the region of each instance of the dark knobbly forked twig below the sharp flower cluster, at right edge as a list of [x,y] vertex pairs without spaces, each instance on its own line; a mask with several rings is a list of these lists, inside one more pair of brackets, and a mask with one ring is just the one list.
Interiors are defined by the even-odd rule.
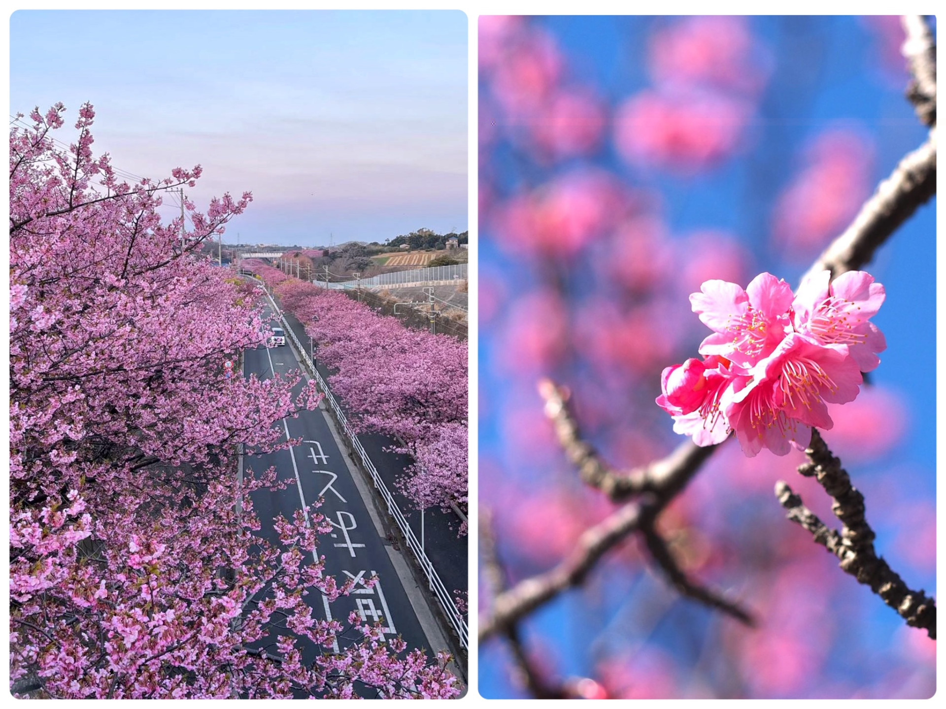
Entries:
[[874,549],[874,530],[867,523],[864,495],[850,482],[841,461],[832,456],[817,429],[812,429],[811,445],[805,450],[809,462],[798,467],[803,476],[815,477],[831,495],[832,510],[841,521],[840,534],[828,528],[815,514],[804,507],[801,498],[784,482],[776,485],[776,495],[788,517],[815,535],[815,542],[825,546],[841,563],[841,568],[901,614],[906,624],[922,628],[937,637],[936,601],[923,591],[913,591]]

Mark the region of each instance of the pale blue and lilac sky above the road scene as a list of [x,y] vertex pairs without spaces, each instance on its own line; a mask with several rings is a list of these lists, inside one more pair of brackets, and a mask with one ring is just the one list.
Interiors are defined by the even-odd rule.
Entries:
[[117,167],[200,163],[199,205],[251,190],[228,240],[463,231],[466,36],[460,11],[20,10],[10,110],[62,101],[71,127],[91,101]]

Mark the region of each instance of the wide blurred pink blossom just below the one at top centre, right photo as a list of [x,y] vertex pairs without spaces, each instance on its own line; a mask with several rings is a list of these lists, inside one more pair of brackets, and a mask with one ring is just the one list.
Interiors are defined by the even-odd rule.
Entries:
[[726,95],[645,90],[617,110],[615,143],[630,164],[690,175],[741,147],[751,114],[748,103]]

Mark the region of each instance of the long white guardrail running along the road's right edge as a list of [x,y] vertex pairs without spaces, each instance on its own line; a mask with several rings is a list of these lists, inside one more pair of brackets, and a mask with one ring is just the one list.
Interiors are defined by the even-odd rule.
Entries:
[[[264,290],[266,289],[264,288]],[[394,495],[392,495],[391,491],[388,490],[388,486],[384,484],[384,480],[381,479],[381,476],[377,474],[375,463],[373,463],[371,458],[368,457],[368,454],[361,445],[361,441],[359,441],[355,431],[353,431],[352,427],[348,424],[348,419],[345,416],[344,411],[342,411],[342,406],[339,406],[339,403],[332,395],[331,390],[328,389],[328,385],[322,378],[322,374],[320,374],[316,369],[315,365],[312,363],[312,360],[309,358],[306,349],[302,346],[302,343],[299,342],[299,339],[295,336],[295,333],[292,332],[292,328],[289,327],[289,322],[287,322],[286,318],[283,316],[282,310],[280,310],[275,301],[272,300],[272,295],[270,295],[269,291],[266,291],[266,295],[270,299],[270,303],[272,303],[273,312],[279,314],[279,320],[283,323],[283,329],[286,331],[286,334],[289,336],[289,339],[295,346],[296,353],[302,357],[309,372],[312,372],[312,374],[315,376],[315,380],[318,382],[319,388],[324,391],[325,399],[328,401],[328,405],[331,406],[336,420],[342,424],[342,429],[344,430],[348,441],[351,442],[352,448],[354,448],[358,453],[361,460],[361,465],[366,471],[368,471],[371,479],[374,480],[377,491],[381,493],[381,499],[384,500],[384,503],[388,507],[388,513],[392,516],[392,518],[394,518],[394,522],[397,523],[397,527],[400,528],[404,538],[407,539],[408,547],[413,552],[414,558],[420,564],[420,567],[424,570],[424,574],[427,576],[430,591],[434,596],[437,597],[437,600],[440,601],[441,608],[443,608],[444,614],[447,615],[447,620],[450,621],[450,625],[453,626],[453,630],[456,631],[457,636],[460,638],[460,644],[464,649],[468,649],[469,628],[466,625],[466,620],[463,614],[460,613],[459,609],[457,609],[457,604],[454,602],[453,597],[449,595],[447,592],[447,587],[444,586],[444,582],[440,580],[440,576],[437,575],[437,571],[433,568],[433,564],[430,562],[427,554],[425,553],[423,545],[421,545],[416,535],[413,533],[411,525],[408,524],[408,520],[407,517],[404,516],[404,512],[402,512],[400,508],[397,507],[397,503],[394,501]]]

